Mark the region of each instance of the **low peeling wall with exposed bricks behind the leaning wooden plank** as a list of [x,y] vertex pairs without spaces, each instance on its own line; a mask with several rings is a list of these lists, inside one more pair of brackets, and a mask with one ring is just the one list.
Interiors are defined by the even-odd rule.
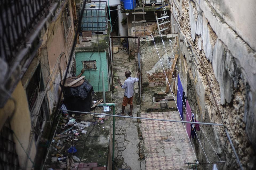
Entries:
[[177,54],[177,43],[175,37],[170,38],[172,41],[171,46],[173,48],[172,53],[169,38],[163,36],[163,40],[165,41],[164,43],[167,56],[161,37],[155,37],[155,43],[162,63],[160,62],[157,50],[152,40],[149,39],[140,42],[142,83],[144,85],[149,85],[151,87],[166,86],[166,76],[163,73],[163,67],[167,77],[169,77],[170,68],[174,60],[173,54]]

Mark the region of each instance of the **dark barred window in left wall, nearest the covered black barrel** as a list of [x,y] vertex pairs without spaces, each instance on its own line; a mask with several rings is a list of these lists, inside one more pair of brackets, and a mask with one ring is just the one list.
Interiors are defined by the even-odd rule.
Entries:
[[38,93],[43,90],[43,78],[41,73],[41,66],[39,64],[26,88],[27,101],[29,103],[29,111],[32,111],[35,101],[37,100]]

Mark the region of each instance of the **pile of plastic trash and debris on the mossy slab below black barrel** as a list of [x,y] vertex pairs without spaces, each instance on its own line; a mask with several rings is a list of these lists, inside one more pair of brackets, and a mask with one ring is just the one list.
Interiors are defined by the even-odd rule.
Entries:
[[[80,160],[81,158],[78,158],[79,156],[75,156],[77,149],[83,147],[81,144],[77,143],[79,137],[87,133],[86,129],[91,124],[103,124],[104,120],[108,118],[106,118],[106,113],[102,113],[104,115],[91,117],[94,122],[82,121],[80,117],[75,114],[70,116],[70,114],[65,111],[67,108],[64,104],[61,105],[61,110],[64,111],[61,111],[62,116],[59,121],[59,127],[57,128],[51,145],[51,162],[57,165],[58,168],[64,165],[66,166],[65,168],[72,168],[72,165],[76,165],[74,164],[75,162],[80,163],[84,161]],[[75,117],[77,117],[77,119]],[[70,157],[68,155],[70,155]]]

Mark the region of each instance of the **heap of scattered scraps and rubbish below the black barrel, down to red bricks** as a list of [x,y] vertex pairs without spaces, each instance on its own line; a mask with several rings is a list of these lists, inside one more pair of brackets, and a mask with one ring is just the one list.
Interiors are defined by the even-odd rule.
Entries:
[[[61,105],[61,109],[67,110],[64,104]],[[89,129],[94,125],[103,124],[104,120],[109,117],[106,117],[106,113],[103,113],[106,115],[96,116],[92,114],[87,114],[86,116],[84,114],[80,116],[72,114],[70,116],[67,111],[61,112],[62,116],[52,141],[48,156],[49,161],[46,164],[47,169],[71,169],[81,168],[81,166],[86,166],[87,168],[97,167],[97,163],[82,163],[86,159],[81,160],[81,155],[76,155],[76,152],[79,149],[83,150]]]

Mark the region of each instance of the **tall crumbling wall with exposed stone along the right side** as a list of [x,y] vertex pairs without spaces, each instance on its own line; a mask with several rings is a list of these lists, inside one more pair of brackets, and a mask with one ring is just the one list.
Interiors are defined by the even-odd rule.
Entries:
[[[179,70],[182,70],[183,88],[187,87],[184,91],[192,111],[200,121],[225,124],[244,169],[254,169],[256,34],[255,12],[250,9],[255,8],[256,3],[251,2],[252,6],[248,7],[249,2],[244,4],[241,1],[234,1],[234,4],[233,1],[217,0],[211,3],[182,1],[182,11],[176,0],[170,3],[174,15],[171,16],[171,23],[175,24],[172,25],[172,32],[179,31],[179,40],[184,40],[180,43]],[[222,3],[226,5],[219,5]],[[243,18],[238,16],[241,13]],[[227,160],[225,164],[218,164],[218,168],[238,169],[224,128],[203,128],[218,155]],[[198,136],[201,141],[207,140],[202,131],[198,132]],[[203,142],[202,145],[211,162],[219,161],[209,143]],[[198,159],[205,162],[198,142],[195,142],[195,147]],[[212,165],[201,168],[211,169]]]

